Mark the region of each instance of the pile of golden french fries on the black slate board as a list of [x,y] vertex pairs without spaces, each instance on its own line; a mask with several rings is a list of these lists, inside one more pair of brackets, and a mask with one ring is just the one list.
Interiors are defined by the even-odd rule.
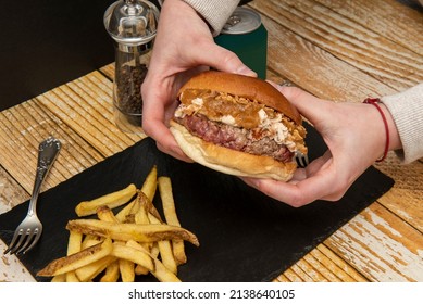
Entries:
[[[157,189],[165,220],[152,204]],[[122,208],[114,212],[117,207]],[[181,227],[171,179],[158,177],[155,165],[141,189],[132,183],[80,202],[75,212],[78,218],[66,225],[67,255],[49,263],[37,276],[52,277],[55,282],[133,282],[136,276],[151,274],[159,281],[177,282],[177,267],[187,262],[184,241],[199,245],[197,237]],[[97,218],[83,218],[91,215]]]

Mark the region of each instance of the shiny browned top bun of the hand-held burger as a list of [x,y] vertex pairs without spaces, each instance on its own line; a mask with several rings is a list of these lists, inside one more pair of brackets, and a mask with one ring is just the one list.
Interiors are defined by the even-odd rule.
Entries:
[[301,115],[297,109],[276,88],[259,78],[208,71],[190,78],[181,88],[178,97],[187,89],[209,89],[256,100],[283,113],[297,125],[302,123]]

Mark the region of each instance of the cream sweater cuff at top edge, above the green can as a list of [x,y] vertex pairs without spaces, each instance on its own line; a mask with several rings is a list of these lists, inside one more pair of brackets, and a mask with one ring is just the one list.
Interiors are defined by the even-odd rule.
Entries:
[[229,18],[240,0],[184,0],[210,25],[216,36]]

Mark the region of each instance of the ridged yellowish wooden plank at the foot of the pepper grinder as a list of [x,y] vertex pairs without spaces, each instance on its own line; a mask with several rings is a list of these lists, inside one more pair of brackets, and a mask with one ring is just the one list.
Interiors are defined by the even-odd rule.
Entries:
[[37,100],[103,156],[111,156],[145,138],[144,134],[126,134],[114,125],[112,83],[99,72],[48,91]]

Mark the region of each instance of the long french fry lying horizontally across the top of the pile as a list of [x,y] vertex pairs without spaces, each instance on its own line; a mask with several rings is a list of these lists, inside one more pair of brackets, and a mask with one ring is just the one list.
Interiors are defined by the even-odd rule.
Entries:
[[188,241],[196,246],[200,245],[192,232],[165,224],[137,225],[108,223],[99,219],[72,219],[67,221],[66,229],[120,241],[157,242],[176,239]]

